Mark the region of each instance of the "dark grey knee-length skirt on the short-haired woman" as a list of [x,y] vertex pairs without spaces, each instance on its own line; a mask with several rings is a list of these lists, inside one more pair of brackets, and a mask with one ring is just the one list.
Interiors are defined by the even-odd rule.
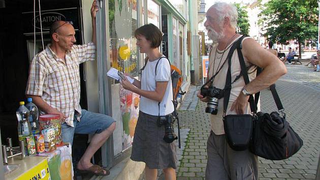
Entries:
[[150,169],[177,168],[175,142],[163,140],[165,126],[158,127],[158,116],[139,111],[138,122],[132,144],[131,159],[145,162]]

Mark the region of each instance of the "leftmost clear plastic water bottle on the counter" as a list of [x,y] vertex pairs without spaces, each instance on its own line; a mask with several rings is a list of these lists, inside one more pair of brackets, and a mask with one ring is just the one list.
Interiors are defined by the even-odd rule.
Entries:
[[18,118],[18,135],[19,140],[22,140],[24,136],[31,135],[31,127],[29,123],[30,111],[24,106],[24,102],[19,102],[20,107],[17,109]]

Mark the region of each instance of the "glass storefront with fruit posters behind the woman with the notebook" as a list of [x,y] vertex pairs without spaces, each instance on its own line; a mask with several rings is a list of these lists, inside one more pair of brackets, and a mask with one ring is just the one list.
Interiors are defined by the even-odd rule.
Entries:
[[[83,8],[88,7],[89,3],[82,1],[83,5],[87,4]],[[189,11],[188,1],[185,0],[103,1],[100,9],[97,17],[97,24],[100,24],[97,28],[100,39],[97,59],[99,82],[95,84],[100,92],[98,95],[100,104],[97,107],[92,103],[94,105],[91,109],[88,100],[88,109],[112,115],[117,121],[113,137],[105,144],[102,153],[106,156],[103,158],[103,165],[112,166],[130,155],[138,119],[139,95],[126,91],[119,82],[108,78],[105,74],[112,67],[139,78],[139,70],[143,66],[145,55],[139,53],[134,31],[143,24],[152,23],[163,31],[161,50],[169,57],[171,63],[182,71],[183,87],[186,90],[190,84],[190,55],[187,53]],[[85,11],[87,10],[83,9],[83,12]],[[84,16],[83,20],[88,21],[87,24],[90,25],[89,17]],[[97,65],[87,64],[87,72],[91,69],[89,66]],[[92,74],[96,75],[97,73]],[[87,82],[86,86],[93,85]],[[91,96],[89,92],[87,91],[88,97]]]

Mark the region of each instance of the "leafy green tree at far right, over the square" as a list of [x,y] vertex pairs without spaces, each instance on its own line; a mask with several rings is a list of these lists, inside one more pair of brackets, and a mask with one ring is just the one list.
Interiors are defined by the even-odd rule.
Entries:
[[317,37],[317,12],[316,0],[270,0],[261,15],[269,39],[281,44],[297,40],[301,58],[301,43]]

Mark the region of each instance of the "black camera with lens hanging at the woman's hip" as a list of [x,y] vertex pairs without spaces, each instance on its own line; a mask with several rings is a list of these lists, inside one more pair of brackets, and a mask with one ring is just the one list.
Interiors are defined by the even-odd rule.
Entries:
[[175,116],[173,115],[163,115],[159,116],[156,124],[158,127],[165,125],[165,136],[164,140],[167,143],[171,143],[174,140],[178,139],[177,135],[174,133],[173,123],[175,122]]

